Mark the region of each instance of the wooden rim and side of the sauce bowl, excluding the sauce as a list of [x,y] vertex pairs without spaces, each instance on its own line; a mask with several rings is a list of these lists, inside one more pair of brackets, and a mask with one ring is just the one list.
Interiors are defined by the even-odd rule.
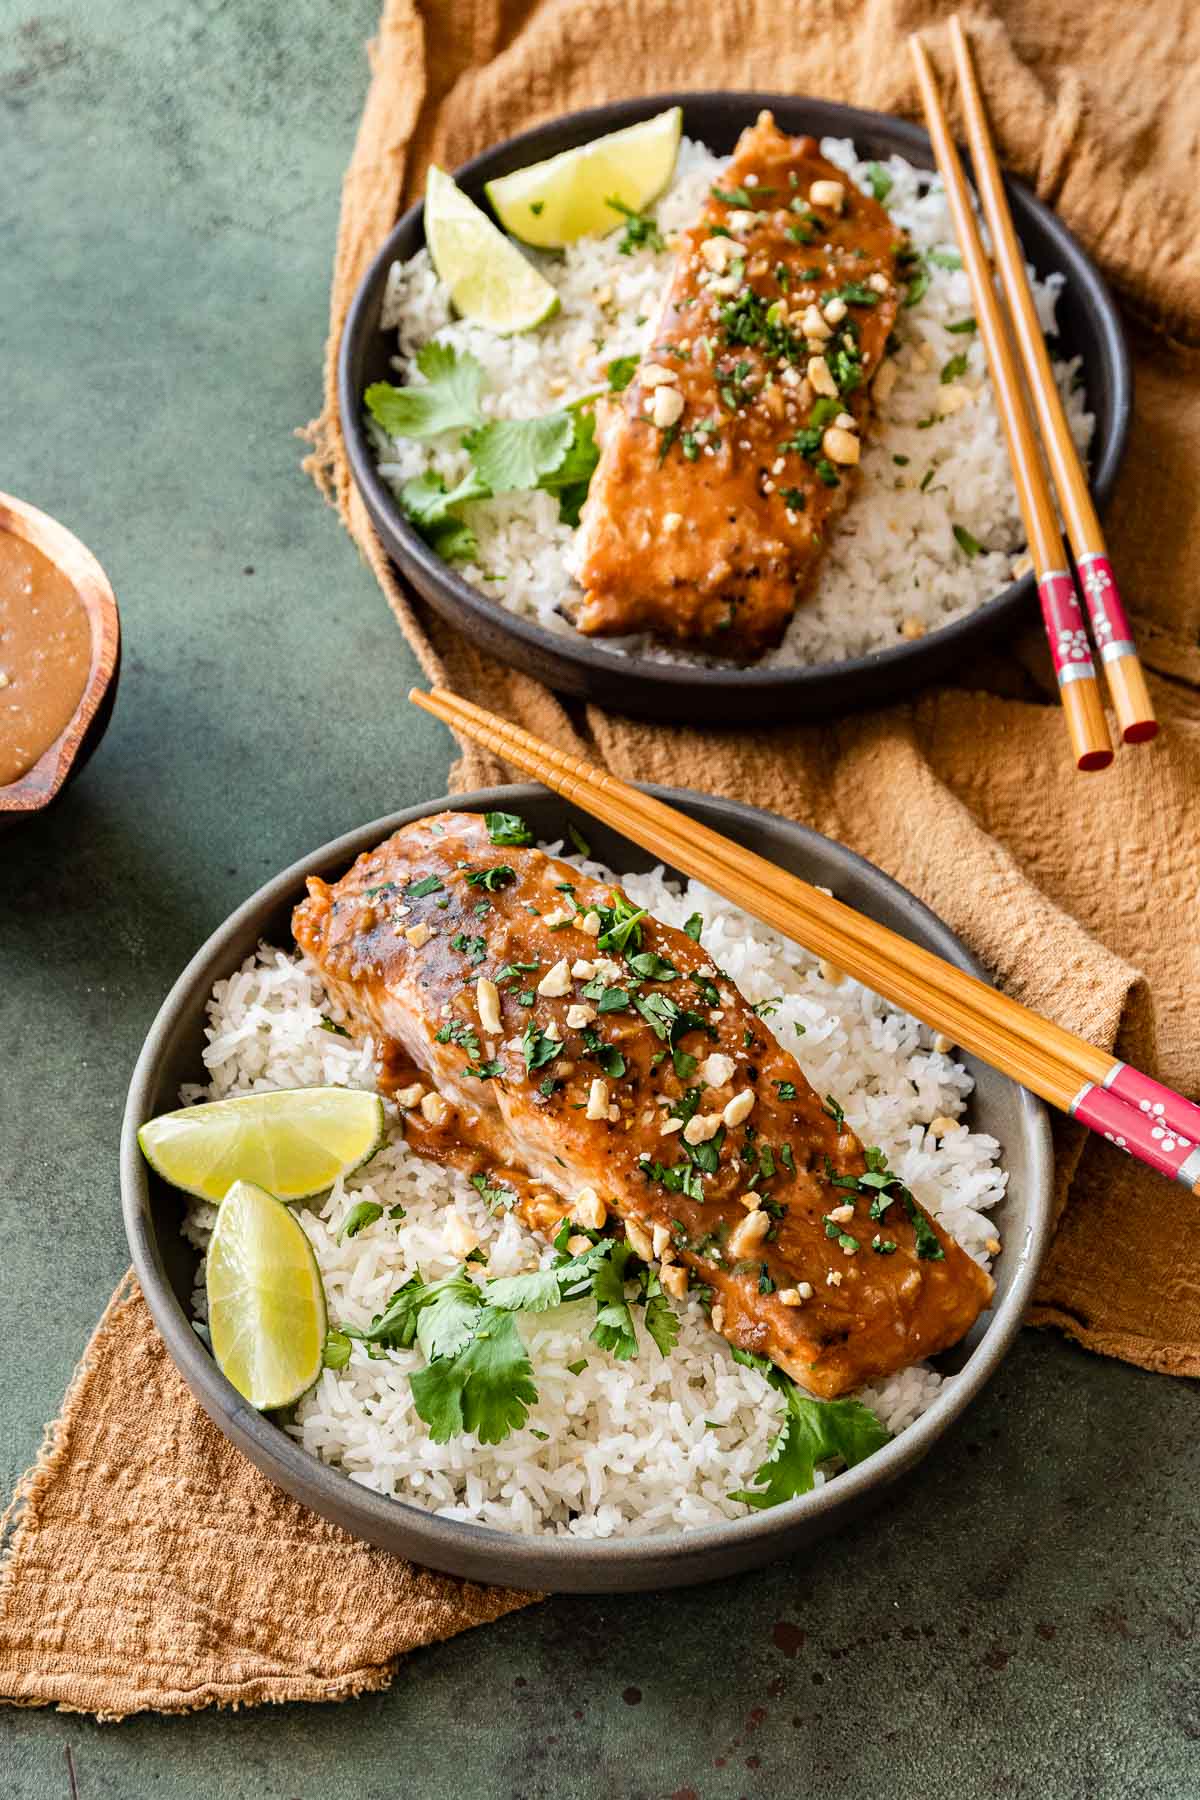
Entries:
[[121,668],[121,617],[117,596],[95,556],[58,518],[36,506],[0,493],[0,531],[32,544],[67,576],[92,628],[92,666],[79,706],[70,722],[16,781],[0,787],[0,830],[22,815],[43,812],[72,776],[77,776],[104,736]]

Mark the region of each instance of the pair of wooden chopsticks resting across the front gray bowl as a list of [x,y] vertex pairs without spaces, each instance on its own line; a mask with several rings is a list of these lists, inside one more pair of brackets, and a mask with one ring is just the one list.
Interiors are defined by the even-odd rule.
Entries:
[[797,875],[443,688],[414,706],[1200,1193],[1200,1107]]

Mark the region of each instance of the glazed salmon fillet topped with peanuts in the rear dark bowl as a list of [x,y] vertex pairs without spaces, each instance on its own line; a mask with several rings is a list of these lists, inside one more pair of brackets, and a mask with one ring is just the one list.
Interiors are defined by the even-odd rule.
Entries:
[[770,113],[682,243],[649,351],[597,409],[574,569],[585,634],[775,644],[846,506],[896,319],[883,207]]

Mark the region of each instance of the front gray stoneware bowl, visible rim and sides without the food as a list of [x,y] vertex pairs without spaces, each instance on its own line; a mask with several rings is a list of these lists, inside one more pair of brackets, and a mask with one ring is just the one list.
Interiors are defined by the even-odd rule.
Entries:
[[[981,974],[979,965],[928,907],[828,837],[732,801],[707,799],[680,788],[646,792],[671,801],[772,862],[831,887],[842,900],[927,945],[955,967]],[[921,1462],[946,1426],[966,1411],[995,1373],[1033,1294],[1051,1226],[1049,1123],[1038,1100],[970,1057],[966,1060],[977,1080],[972,1125],[1000,1139],[1009,1170],[1007,1195],[997,1215],[1004,1253],[997,1267],[995,1305],[961,1345],[937,1359],[937,1366],[955,1379],[909,1431],[824,1489],[768,1512],[669,1537],[621,1537],[606,1543],[515,1537],[482,1525],[439,1519],[417,1507],[371,1494],[302,1451],[268,1417],[246,1406],[189,1323],[196,1251],[180,1233],[184,1195],[162,1183],[142,1161],[137,1130],[157,1112],[178,1105],[184,1082],[203,1078],[200,1053],[212,983],[232,974],[261,938],[290,943],[290,914],[304,895],[304,877],[338,877],[354,857],[398,826],[446,806],[520,812],[545,841],[565,835],[570,812],[565,801],[545,788],[507,787],[428,801],[360,826],[295,862],[246,900],[196,952],[164,1001],[130,1085],[121,1141],[121,1188],[133,1265],[167,1350],[209,1417],[282,1489],[356,1537],[452,1575],[516,1588],[622,1593],[730,1575],[813,1544],[880,1499],[898,1476]],[[615,869],[644,869],[657,860],[592,819],[587,821],[587,835],[596,855]]]

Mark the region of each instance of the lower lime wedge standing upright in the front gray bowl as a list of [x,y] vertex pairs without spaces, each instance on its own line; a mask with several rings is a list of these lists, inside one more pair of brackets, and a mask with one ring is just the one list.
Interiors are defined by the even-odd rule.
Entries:
[[236,1181],[209,1244],[209,1336],[250,1406],[291,1406],[320,1375],[326,1291],[300,1222],[272,1193]]

